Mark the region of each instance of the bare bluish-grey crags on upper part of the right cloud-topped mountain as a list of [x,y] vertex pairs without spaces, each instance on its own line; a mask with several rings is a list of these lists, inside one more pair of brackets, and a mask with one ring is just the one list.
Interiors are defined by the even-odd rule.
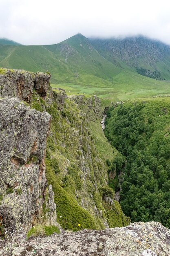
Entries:
[[158,40],[152,40],[144,36],[110,38],[110,39],[91,39],[90,42],[99,52],[101,49],[109,52],[111,56],[119,57],[128,65],[137,67],[139,58],[149,65],[151,63],[163,60],[166,54],[170,53],[169,45]]

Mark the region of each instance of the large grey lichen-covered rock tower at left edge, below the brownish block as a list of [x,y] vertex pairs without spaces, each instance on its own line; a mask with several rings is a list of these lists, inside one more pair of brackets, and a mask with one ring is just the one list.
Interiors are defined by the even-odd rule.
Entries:
[[[33,225],[43,214],[50,122],[47,112],[30,109],[17,98],[0,98],[0,216],[7,229]],[[55,211],[54,203],[50,210]]]

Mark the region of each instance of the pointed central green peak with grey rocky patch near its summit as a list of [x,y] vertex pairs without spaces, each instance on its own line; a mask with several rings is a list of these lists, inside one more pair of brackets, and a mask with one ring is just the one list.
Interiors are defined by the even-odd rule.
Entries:
[[62,61],[71,64],[75,69],[78,68],[80,74],[82,70],[87,74],[112,81],[113,77],[121,71],[119,67],[103,58],[81,34],[72,36],[57,45],[45,47],[55,52]]

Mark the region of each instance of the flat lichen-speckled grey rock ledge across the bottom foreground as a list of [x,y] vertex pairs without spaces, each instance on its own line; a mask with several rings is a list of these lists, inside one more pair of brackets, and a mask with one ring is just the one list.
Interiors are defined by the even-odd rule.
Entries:
[[170,230],[159,222],[137,222],[127,227],[62,231],[26,240],[16,233],[0,241],[3,256],[169,256]]

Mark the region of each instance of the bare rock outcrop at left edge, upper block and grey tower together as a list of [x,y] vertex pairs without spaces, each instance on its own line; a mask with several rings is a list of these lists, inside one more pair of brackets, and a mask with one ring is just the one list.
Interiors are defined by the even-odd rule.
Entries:
[[20,101],[29,101],[33,88],[45,96],[49,78],[18,70],[0,75],[0,218],[7,229],[56,223],[53,191],[51,187],[47,191],[45,175],[51,115]]

